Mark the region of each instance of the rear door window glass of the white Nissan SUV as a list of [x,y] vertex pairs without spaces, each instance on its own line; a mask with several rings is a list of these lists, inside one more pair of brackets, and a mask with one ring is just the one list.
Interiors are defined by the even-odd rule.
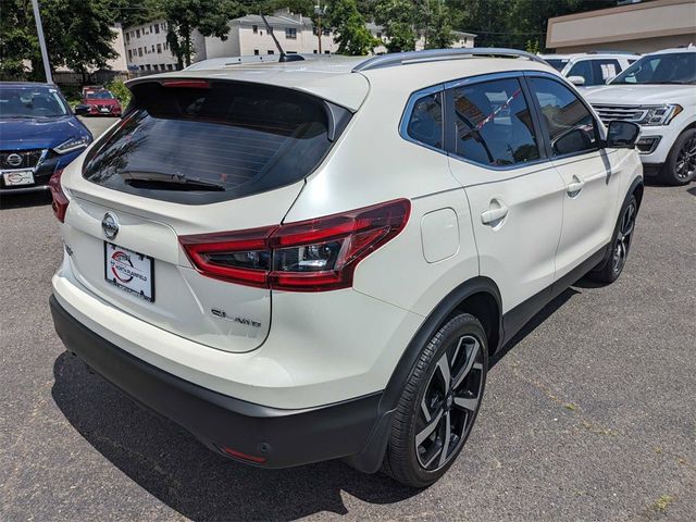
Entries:
[[519,80],[457,87],[452,95],[458,156],[496,166],[539,158],[530,109]]

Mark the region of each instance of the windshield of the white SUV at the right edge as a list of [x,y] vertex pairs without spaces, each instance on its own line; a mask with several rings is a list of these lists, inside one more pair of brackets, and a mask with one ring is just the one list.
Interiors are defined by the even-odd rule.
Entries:
[[611,82],[617,84],[696,84],[696,52],[643,57]]

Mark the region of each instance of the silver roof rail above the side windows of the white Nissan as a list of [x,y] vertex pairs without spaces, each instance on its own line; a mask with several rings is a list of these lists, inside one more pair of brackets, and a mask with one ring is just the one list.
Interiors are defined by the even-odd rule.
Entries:
[[544,59],[526,51],[517,49],[504,49],[497,47],[476,47],[465,49],[431,49],[427,51],[395,52],[393,54],[380,54],[372,57],[364,62],[360,62],[353,67],[353,73],[360,71],[372,71],[373,69],[393,67],[395,65],[407,65],[409,63],[436,62],[440,60],[459,60],[470,57],[505,57],[505,58],[526,58],[533,62],[543,63]]

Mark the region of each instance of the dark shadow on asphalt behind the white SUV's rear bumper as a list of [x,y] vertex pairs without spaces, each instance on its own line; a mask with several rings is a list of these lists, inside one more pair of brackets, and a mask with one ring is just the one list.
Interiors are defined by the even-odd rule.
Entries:
[[346,514],[341,492],[373,504],[397,502],[419,493],[340,461],[288,470],[240,464],[144,410],[69,352],[55,360],[53,372],[53,399],[73,427],[129,478],[192,520]]

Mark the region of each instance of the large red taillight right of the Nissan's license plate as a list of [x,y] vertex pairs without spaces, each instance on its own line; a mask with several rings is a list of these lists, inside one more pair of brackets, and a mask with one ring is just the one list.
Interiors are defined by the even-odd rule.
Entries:
[[347,288],[358,263],[406,226],[411,203],[389,201],[343,214],[240,232],[179,237],[207,276],[260,288]]

